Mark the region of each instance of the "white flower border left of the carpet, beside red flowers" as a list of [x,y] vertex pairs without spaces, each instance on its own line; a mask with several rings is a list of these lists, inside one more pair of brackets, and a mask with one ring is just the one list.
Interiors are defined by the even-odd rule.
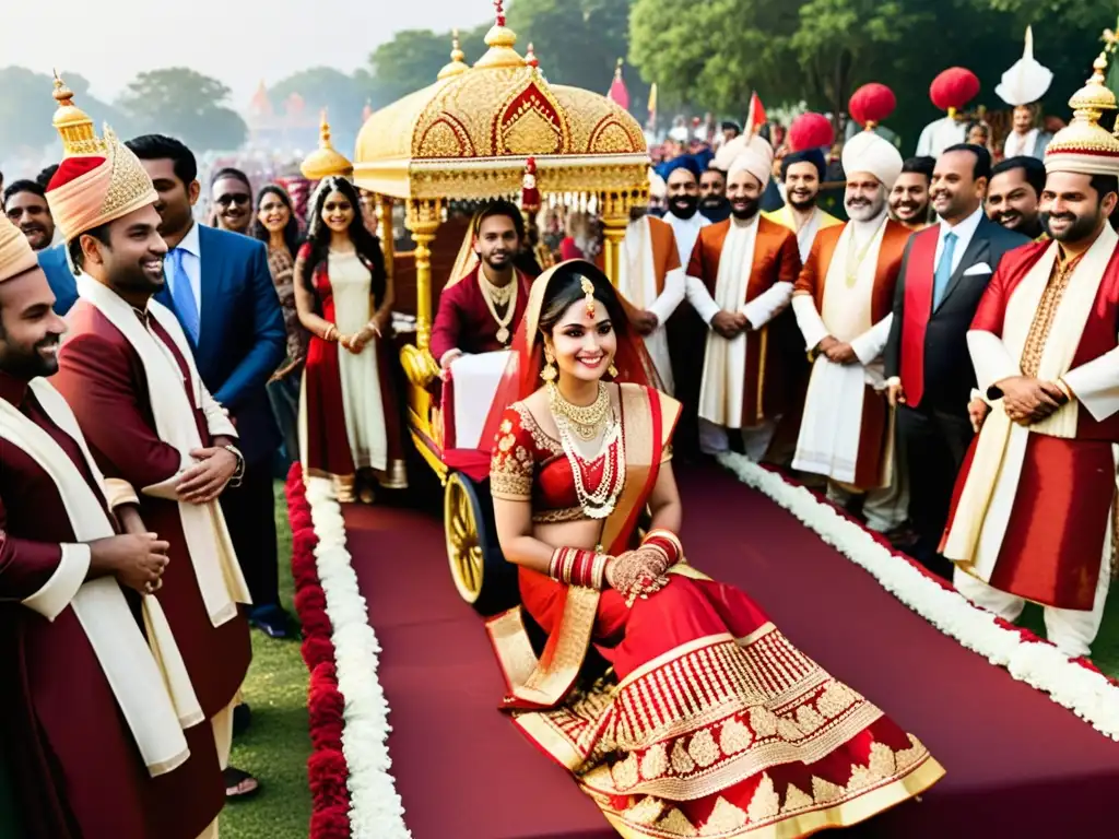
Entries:
[[358,588],[346,521],[329,481],[312,478],[307,501],[319,544],[314,548],[319,582],[333,628],[338,690],[342,711],[342,754],[349,776],[350,836],[356,839],[411,839],[404,823],[404,803],[389,772],[388,700],[377,678],[380,644],[369,625],[365,597]]

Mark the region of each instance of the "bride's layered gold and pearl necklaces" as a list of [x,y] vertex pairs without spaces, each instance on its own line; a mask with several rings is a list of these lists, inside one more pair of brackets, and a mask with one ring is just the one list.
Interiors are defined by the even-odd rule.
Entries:
[[[611,409],[610,392],[600,381],[598,398],[584,407],[567,402],[553,384],[548,386],[548,406],[560,431],[560,443],[571,465],[580,507],[587,518],[606,518],[614,511],[618,497],[626,486],[626,445],[622,425]],[[585,443],[600,435],[602,442],[598,451],[584,458],[575,439]],[[594,482],[595,472],[601,472],[598,482]]]

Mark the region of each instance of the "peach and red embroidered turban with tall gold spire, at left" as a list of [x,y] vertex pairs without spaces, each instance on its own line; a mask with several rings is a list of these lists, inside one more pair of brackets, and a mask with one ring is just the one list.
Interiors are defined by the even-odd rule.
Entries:
[[72,102],[74,94],[55,79],[58,110],[54,124],[63,139],[63,161],[47,185],[47,205],[66,242],[154,204],[159,196],[140,159]]

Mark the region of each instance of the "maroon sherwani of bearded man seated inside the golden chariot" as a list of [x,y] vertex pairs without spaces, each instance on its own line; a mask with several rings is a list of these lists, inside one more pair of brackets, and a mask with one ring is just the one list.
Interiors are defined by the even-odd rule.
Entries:
[[453,349],[468,355],[479,352],[496,352],[509,348],[509,341],[520,326],[528,307],[529,279],[517,273],[517,304],[509,321],[509,341],[501,343],[497,339],[498,323],[490,314],[482,295],[478,277],[481,265],[476,267],[454,285],[444,289],[439,299],[439,312],[431,330],[431,355],[435,362]]

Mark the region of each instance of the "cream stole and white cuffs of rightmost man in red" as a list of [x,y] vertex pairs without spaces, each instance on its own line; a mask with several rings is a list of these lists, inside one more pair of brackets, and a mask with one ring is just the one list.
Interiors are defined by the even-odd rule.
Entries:
[[[1073,271],[1045,339],[1037,378],[1055,381],[1069,373],[1117,244],[1119,236],[1110,225],[1104,225]],[[1056,242],[1050,243],[1045,254],[1006,301],[1002,340],[989,332],[968,333],[980,388],[986,389],[994,384],[995,377],[1007,375],[1007,370],[1013,371],[1010,375],[1021,375],[1026,338],[1053,273],[1057,247]],[[1002,399],[991,405],[944,543],[944,556],[980,579],[990,579],[1014,508],[1029,434],[1071,440],[1076,436],[1079,413],[1080,404],[1073,400],[1027,428],[1010,422]]]

